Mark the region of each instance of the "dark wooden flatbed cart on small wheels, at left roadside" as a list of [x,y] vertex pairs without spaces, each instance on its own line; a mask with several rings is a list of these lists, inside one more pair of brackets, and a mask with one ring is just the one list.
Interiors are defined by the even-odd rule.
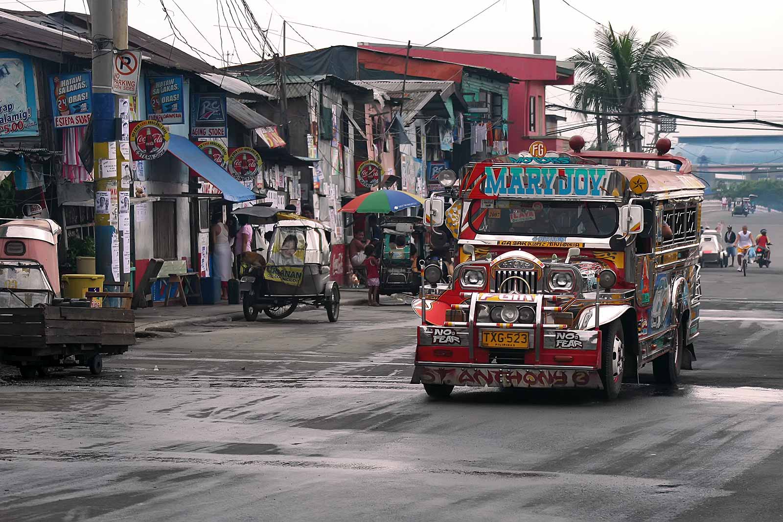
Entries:
[[87,366],[97,375],[103,355],[135,344],[132,310],[45,306],[0,308],[0,362],[25,378],[51,366]]

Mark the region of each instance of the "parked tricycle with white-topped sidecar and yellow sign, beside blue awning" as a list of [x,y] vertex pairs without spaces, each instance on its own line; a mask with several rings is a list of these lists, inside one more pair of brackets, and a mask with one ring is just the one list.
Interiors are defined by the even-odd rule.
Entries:
[[266,256],[249,255],[240,279],[242,309],[247,321],[264,311],[271,319],[283,319],[298,304],[327,309],[330,322],[340,315],[340,288],[330,281],[330,230],[320,221],[272,207],[247,207],[251,225],[274,224]]

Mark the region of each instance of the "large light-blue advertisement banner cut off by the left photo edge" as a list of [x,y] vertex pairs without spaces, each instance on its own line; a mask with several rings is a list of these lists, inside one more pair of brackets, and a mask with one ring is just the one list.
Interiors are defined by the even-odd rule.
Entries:
[[16,52],[0,52],[0,138],[37,135],[33,63]]

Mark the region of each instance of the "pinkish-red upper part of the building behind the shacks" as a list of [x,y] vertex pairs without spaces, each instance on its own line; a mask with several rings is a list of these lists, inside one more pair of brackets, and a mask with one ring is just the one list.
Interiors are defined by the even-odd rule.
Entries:
[[[359,43],[360,48],[404,55],[405,45]],[[438,59],[444,62],[487,67],[517,78],[508,89],[508,149],[527,150],[540,140],[547,149],[568,149],[568,140],[547,135],[545,88],[547,85],[573,85],[574,67],[558,62],[554,56],[516,54],[514,52],[471,51],[440,47],[411,47],[410,56]]]

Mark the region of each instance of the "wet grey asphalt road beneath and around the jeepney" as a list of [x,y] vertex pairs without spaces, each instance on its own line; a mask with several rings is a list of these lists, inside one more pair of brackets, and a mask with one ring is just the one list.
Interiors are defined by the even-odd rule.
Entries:
[[[713,224],[726,213],[709,211]],[[783,214],[734,218],[770,231]],[[702,272],[674,389],[409,384],[417,318],[345,307],[215,322],[0,387],[0,520],[772,520],[783,517],[783,258]]]

